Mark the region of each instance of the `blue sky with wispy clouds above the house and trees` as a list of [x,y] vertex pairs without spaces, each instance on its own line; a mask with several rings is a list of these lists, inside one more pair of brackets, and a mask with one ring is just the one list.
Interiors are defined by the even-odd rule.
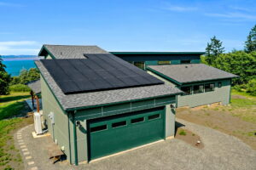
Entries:
[[256,0],[0,0],[0,54],[38,54],[43,44],[108,51],[243,49]]

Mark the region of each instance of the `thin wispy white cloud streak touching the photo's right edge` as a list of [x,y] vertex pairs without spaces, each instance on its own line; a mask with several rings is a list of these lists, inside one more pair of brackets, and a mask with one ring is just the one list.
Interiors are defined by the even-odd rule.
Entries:
[[225,18],[225,19],[242,19],[242,20],[256,20],[256,15],[254,14],[243,14],[243,13],[212,13],[206,14],[207,16]]

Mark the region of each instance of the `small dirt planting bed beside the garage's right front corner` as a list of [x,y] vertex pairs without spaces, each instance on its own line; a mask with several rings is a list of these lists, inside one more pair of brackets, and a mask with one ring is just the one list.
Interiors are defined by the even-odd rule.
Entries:
[[187,129],[183,129],[182,127],[177,128],[175,138],[183,140],[184,142],[191,144],[192,146],[199,149],[204,147],[204,144],[202,144],[201,139],[197,134],[192,133]]

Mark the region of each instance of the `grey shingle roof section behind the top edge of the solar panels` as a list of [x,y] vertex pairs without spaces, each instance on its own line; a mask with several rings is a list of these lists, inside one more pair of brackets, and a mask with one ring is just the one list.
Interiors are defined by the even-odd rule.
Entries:
[[107,51],[97,46],[45,44],[43,48],[47,48],[55,59],[84,59],[84,54],[108,54]]

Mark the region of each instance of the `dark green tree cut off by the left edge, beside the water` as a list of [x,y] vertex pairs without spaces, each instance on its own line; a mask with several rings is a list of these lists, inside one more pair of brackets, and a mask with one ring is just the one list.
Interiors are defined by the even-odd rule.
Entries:
[[9,94],[9,82],[11,80],[9,74],[5,71],[6,66],[3,65],[3,59],[0,55],[0,95]]

